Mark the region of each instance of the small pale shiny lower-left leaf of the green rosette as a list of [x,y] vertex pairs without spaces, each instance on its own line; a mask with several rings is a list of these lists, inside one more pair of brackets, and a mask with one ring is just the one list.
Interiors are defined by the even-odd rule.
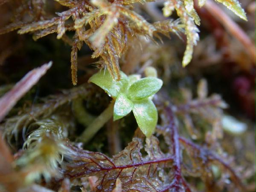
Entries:
[[120,93],[114,105],[114,121],[117,119],[121,119],[123,116],[127,115],[131,112],[134,104],[131,100],[129,100],[125,94]]

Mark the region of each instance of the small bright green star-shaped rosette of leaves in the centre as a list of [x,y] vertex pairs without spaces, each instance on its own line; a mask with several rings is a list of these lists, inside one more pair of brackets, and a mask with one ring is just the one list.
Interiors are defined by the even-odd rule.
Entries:
[[162,87],[161,79],[155,77],[140,79],[137,75],[128,77],[121,72],[121,79],[116,81],[108,71],[101,70],[94,74],[89,82],[101,87],[115,100],[114,121],[132,111],[143,134],[150,137],[154,133],[158,115],[151,98]]

